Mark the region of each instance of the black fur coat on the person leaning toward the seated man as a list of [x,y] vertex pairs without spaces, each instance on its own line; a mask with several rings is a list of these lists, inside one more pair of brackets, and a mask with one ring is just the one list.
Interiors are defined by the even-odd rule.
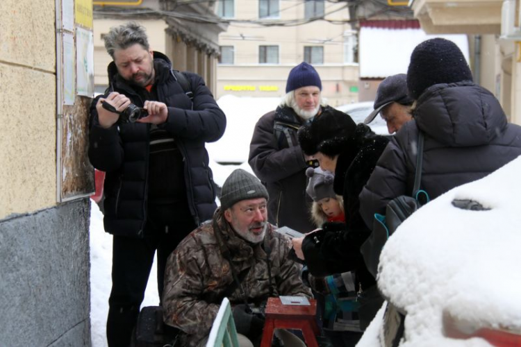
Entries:
[[355,271],[357,291],[374,285],[360,253],[370,229],[360,216],[358,194],[388,142],[388,137],[375,135],[368,126],[358,124],[354,138],[338,156],[333,189],[344,199],[346,223],[324,223],[322,231],[304,239],[302,251],[314,276]]

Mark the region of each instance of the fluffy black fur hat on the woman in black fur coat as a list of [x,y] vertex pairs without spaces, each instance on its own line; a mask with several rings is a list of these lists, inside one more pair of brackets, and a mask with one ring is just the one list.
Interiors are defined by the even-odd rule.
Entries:
[[345,150],[356,130],[356,123],[342,111],[325,108],[311,124],[299,129],[299,144],[306,155],[317,152],[334,156]]

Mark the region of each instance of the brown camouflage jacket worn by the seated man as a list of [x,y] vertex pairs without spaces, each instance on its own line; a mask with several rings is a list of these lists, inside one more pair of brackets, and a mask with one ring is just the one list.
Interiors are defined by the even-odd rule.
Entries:
[[[167,260],[163,293],[165,323],[183,330],[183,346],[197,346],[210,333],[225,295],[232,306],[244,303],[240,288],[233,284],[230,266],[239,278],[244,277],[242,288],[249,303],[267,300],[268,257],[272,296],[311,297],[310,289],[301,281],[301,266],[288,258],[290,249],[289,239],[275,232],[272,225],[267,228],[265,242],[246,242],[217,210],[213,221],[192,231]],[[229,257],[224,255],[226,252]],[[235,287],[231,293],[230,286]]]

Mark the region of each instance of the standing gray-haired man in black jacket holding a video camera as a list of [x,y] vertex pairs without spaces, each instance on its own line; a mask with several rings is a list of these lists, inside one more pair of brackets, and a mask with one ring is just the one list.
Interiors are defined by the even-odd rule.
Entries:
[[106,171],[104,227],[113,234],[107,340],[114,347],[129,346],[156,250],[161,296],[167,257],[216,208],[204,144],[222,136],[226,117],[201,76],[172,70],[150,49],[140,24],[110,28],[104,40],[113,62],[109,87],[90,108],[89,158]]

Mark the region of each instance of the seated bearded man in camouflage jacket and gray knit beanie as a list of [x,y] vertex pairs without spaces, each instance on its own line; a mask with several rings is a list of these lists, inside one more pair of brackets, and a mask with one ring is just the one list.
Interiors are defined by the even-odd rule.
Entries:
[[[224,297],[232,305],[241,347],[258,346],[264,318],[258,310],[272,296],[306,296],[301,265],[289,258],[287,237],[267,222],[266,188],[236,169],[222,185],[221,207],[211,222],[186,237],[165,271],[165,323],[182,330],[181,346],[206,346]],[[305,346],[276,330],[284,346]]]

